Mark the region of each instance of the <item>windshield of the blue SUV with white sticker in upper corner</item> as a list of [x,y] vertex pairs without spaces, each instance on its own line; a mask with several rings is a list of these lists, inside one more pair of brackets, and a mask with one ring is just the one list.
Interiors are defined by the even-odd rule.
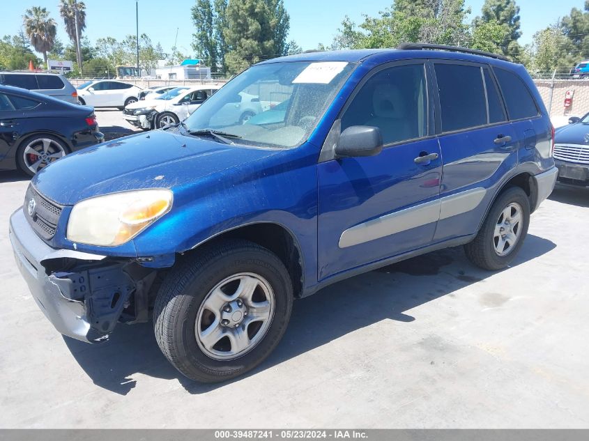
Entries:
[[206,100],[185,126],[190,132],[234,135],[240,144],[296,147],[309,137],[354,67],[345,61],[254,65]]

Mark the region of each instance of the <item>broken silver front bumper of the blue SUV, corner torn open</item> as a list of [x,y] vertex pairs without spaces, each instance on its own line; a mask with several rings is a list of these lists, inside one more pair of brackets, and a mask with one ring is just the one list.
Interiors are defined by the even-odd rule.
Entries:
[[33,298],[61,334],[99,343],[118,321],[148,319],[155,270],[132,259],[49,247],[26,221],[22,208],[10,217],[9,236]]

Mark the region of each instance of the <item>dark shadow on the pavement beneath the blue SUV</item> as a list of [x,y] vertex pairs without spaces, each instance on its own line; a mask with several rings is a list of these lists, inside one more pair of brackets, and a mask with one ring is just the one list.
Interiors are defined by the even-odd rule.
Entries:
[[[550,240],[528,235],[511,266],[531,261],[555,247],[556,244]],[[265,362],[246,376],[256,375],[381,320],[404,323],[416,320],[405,311],[452,294],[493,274],[496,272],[473,266],[464,256],[462,248],[456,247],[424,254],[328,286],[294,303],[291,322],[280,345]],[[424,284],[420,277],[433,277],[436,283]],[[68,337],[64,340],[95,385],[117,394],[128,394],[135,387],[137,380],[134,376],[137,373],[177,379],[190,394],[203,394],[243,378],[215,385],[188,380],[160,352],[151,323],[118,325],[111,339],[97,346]]]

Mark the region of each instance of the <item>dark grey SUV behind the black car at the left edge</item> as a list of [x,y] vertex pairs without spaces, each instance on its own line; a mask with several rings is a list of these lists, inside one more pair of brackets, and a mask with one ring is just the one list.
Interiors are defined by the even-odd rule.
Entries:
[[77,91],[63,75],[51,72],[0,72],[0,84],[26,88],[76,104]]

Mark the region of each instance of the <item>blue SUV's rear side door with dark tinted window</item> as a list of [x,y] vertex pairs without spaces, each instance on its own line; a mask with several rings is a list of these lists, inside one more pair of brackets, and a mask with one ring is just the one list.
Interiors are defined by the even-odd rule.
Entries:
[[489,65],[434,61],[443,158],[434,241],[475,233],[493,189],[517,166],[517,137]]

